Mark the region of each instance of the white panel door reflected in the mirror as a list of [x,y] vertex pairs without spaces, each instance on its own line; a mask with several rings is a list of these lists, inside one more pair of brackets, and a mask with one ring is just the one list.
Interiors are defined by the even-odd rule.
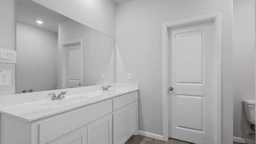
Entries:
[[66,88],[81,85],[80,44],[66,46]]

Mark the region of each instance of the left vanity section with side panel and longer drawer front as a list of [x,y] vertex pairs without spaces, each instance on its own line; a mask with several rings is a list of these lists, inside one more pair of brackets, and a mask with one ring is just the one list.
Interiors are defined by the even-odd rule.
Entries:
[[1,114],[1,144],[111,144],[111,112],[109,99],[32,122]]

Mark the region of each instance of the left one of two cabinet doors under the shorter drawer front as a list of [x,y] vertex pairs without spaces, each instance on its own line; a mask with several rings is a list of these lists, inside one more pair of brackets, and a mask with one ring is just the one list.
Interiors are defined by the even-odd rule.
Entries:
[[128,106],[113,112],[113,144],[128,140]]

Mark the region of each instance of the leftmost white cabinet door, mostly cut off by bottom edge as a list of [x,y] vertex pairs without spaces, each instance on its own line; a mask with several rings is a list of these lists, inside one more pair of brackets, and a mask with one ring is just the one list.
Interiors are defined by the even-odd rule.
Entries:
[[87,127],[83,126],[78,130],[64,135],[50,144],[87,144]]

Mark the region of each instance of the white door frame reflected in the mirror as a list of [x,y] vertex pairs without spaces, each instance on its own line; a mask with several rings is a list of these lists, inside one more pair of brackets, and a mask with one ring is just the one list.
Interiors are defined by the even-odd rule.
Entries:
[[60,48],[60,75],[61,75],[61,88],[66,88],[66,46],[80,44],[80,60],[81,60],[81,73],[80,73],[80,82],[81,86],[83,85],[83,40],[72,40],[68,42],[62,42]]

